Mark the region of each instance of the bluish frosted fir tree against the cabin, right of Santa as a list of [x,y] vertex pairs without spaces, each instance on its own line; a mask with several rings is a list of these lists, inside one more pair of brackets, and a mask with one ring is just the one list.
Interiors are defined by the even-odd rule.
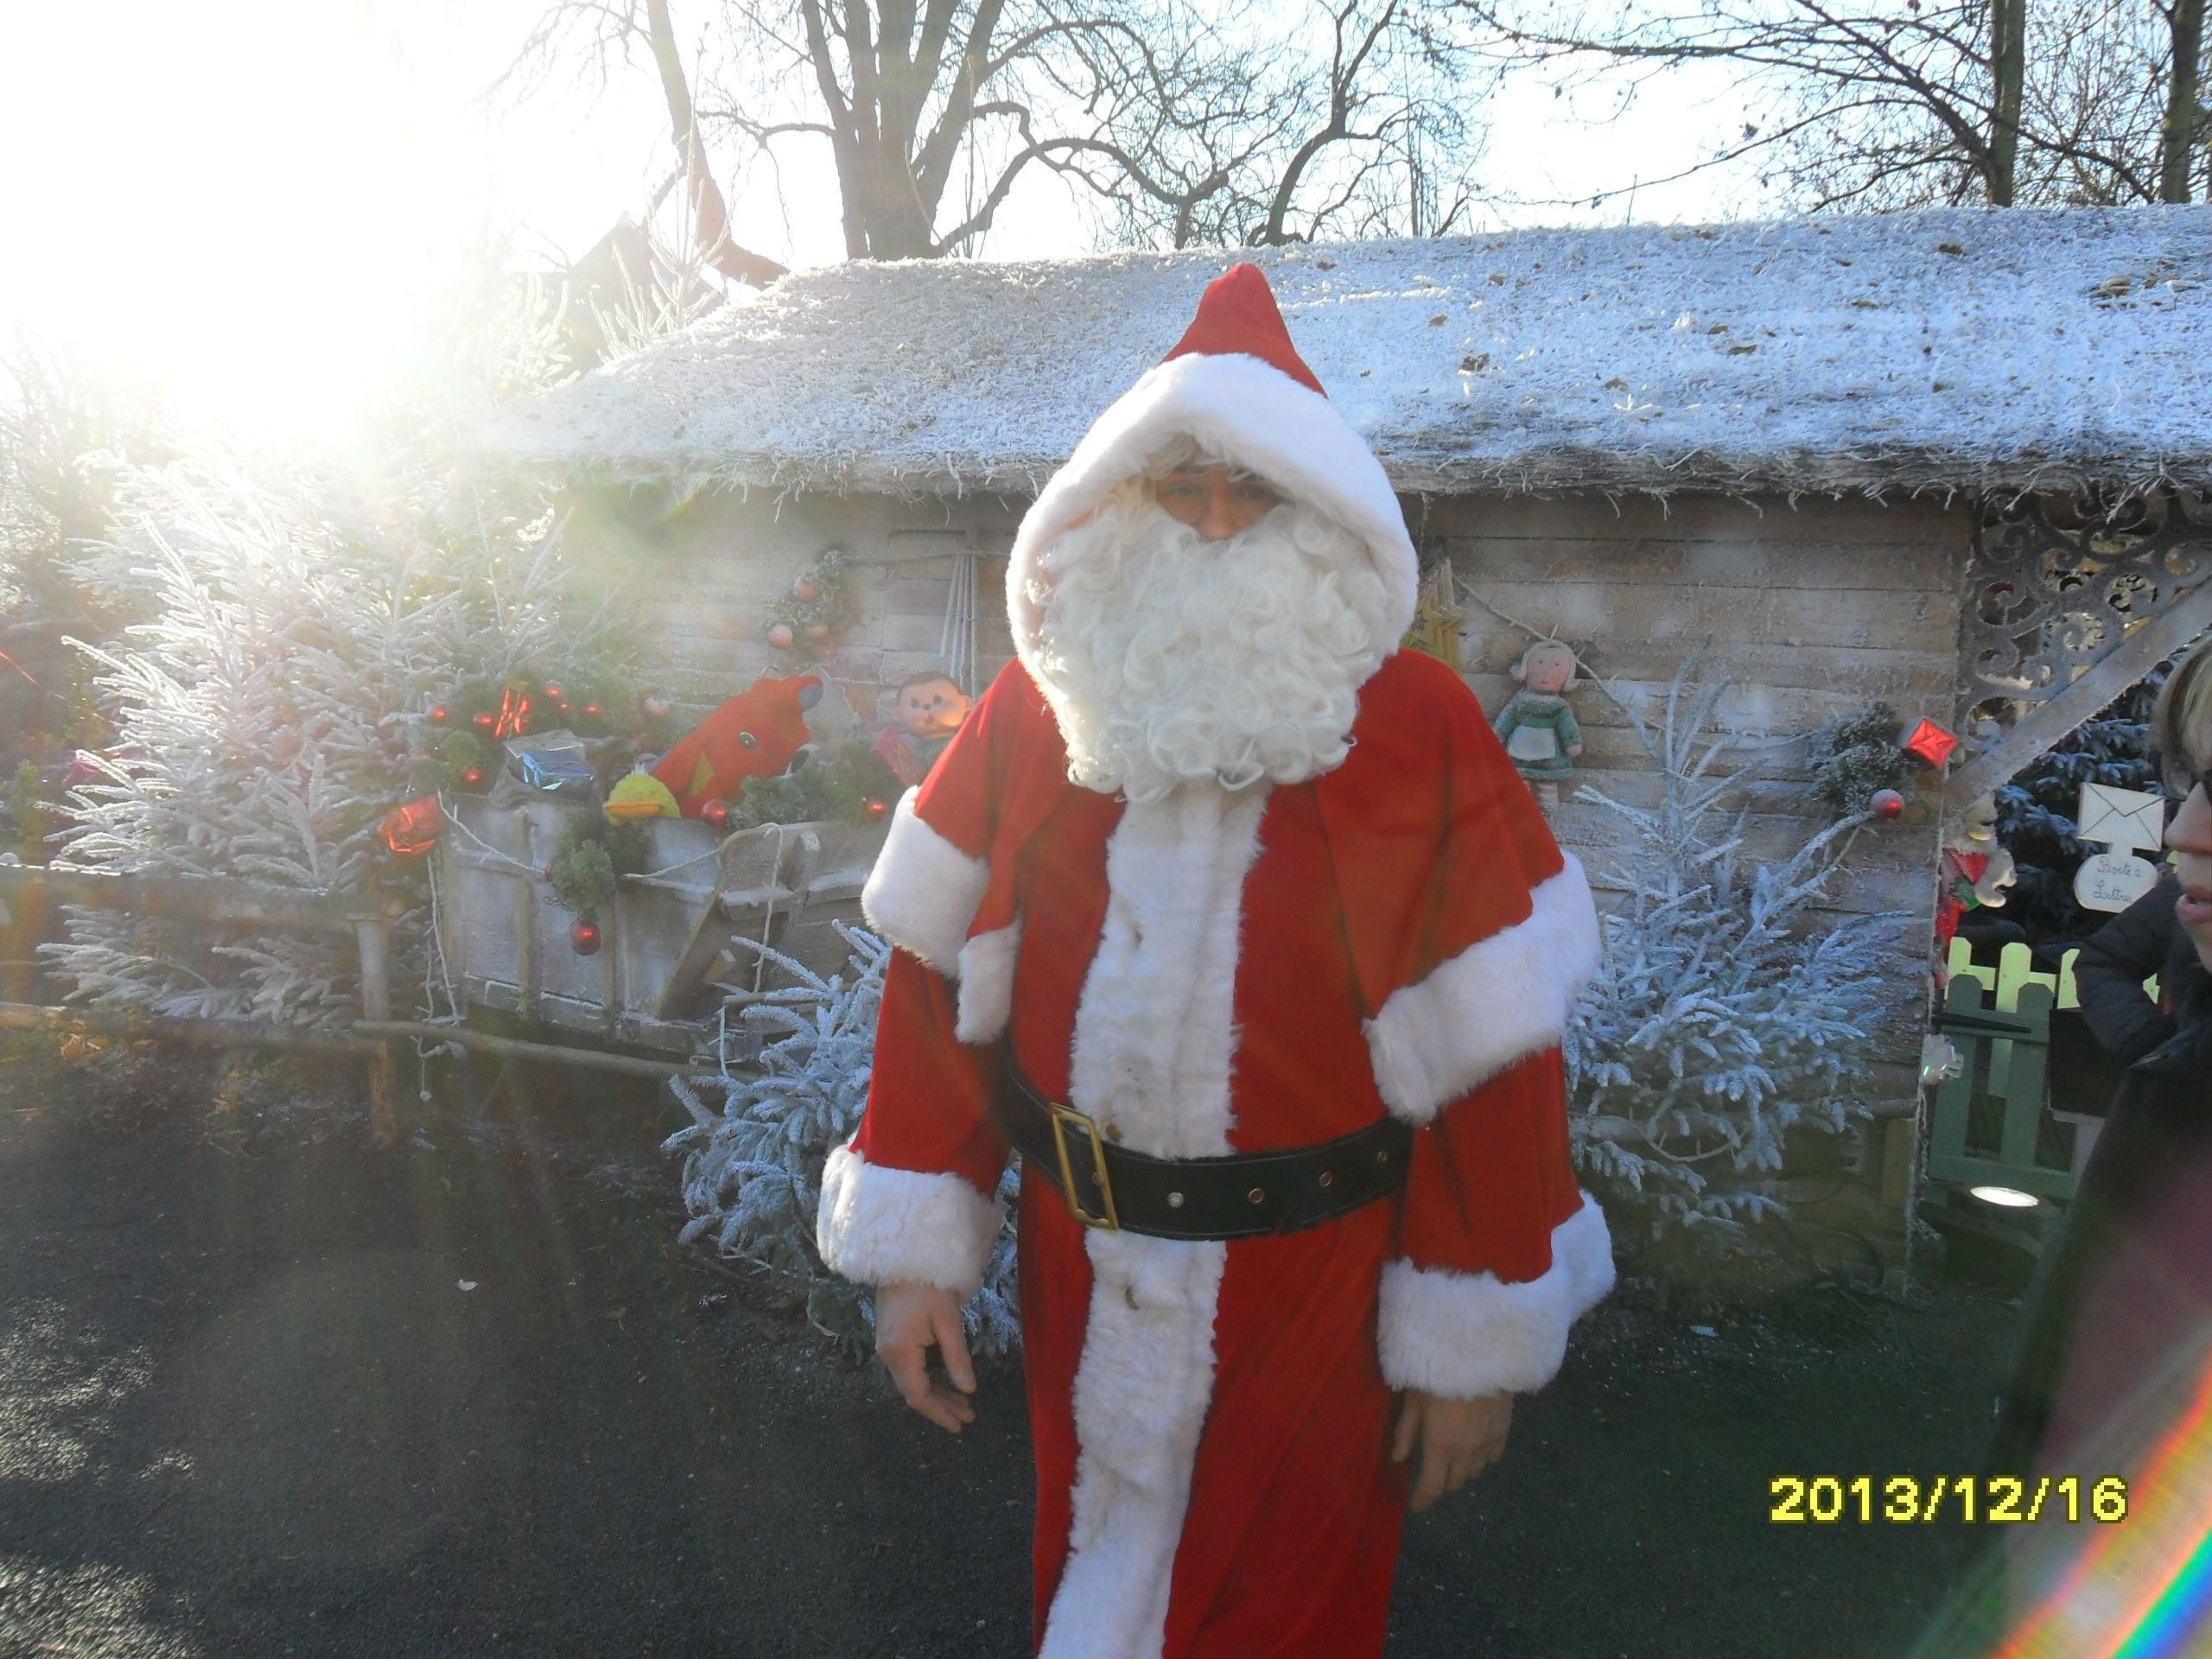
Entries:
[[1741,1245],[1747,1223],[1785,1212],[1772,1194],[1796,1130],[1840,1133],[1865,1113],[1871,1033],[1891,1009],[1902,914],[1836,916],[1827,898],[1865,816],[1814,834],[1778,865],[1743,854],[1743,807],[1721,801],[1750,768],[1712,776],[1710,737],[1728,679],[1692,684],[1694,650],[1652,734],[1652,810],[1584,785],[1577,801],[1619,814],[1635,854],[1613,878],[1626,902],[1601,918],[1604,964],[1566,1031],[1571,1133],[1606,1208],[1648,1237],[1699,1232]]

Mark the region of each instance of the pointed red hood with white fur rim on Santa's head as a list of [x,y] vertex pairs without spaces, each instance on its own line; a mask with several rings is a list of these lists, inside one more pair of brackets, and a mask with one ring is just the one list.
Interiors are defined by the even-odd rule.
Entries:
[[1413,626],[1420,586],[1405,511],[1367,440],[1290,343],[1265,274],[1243,263],[1208,283],[1183,338],[1097,418],[1022,520],[1006,564],[1006,615],[1024,664],[1040,624],[1029,582],[1044,549],[1175,438],[1194,438],[1349,529],[1383,577],[1385,653],[1396,648]]

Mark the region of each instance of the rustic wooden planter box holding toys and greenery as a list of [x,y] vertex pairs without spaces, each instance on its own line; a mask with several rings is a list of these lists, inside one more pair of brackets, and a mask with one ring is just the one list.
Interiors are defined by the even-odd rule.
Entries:
[[860,922],[860,885],[889,821],[785,823],[719,836],[692,818],[653,818],[648,872],[619,876],[597,956],[568,945],[575,920],[544,867],[573,812],[595,805],[487,799],[456,803],[438,838],[440,936],[469,1004],[613,1042],[690,1055],[730,991],[790,975],[739,940],[763,940],[830,975],[849,949],[832,920]]

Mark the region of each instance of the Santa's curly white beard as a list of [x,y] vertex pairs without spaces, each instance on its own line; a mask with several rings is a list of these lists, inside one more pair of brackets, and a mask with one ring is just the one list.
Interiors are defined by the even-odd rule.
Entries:
[[1208,542],[1124,487],[1037,568],[1026,655],[1068,776],[1128,801],[1327,772],[1352,748],[1360,684],[1398,644],[1367,549],[1298,502]]

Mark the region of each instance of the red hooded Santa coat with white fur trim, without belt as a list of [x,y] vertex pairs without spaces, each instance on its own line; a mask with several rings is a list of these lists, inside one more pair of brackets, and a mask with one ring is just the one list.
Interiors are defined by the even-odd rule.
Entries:
[[1053,538],[1164,438],[1349,526],[1396,639],[1413,549],[1387,478],[1250,265],[1108,409],[1022,522],[1009,666],[869,876],[887,969],[867,1113],[816,1239],[863,1283],[973,1294],[1002,1214],[1009,1048],[1157,1157],[1416,1126],[1405,1190],[1318,1228],[1082,1228],[1024,1172],[1022,1336],[1048,1659],[1376,1652],[1405,1506],[1394,1389],[1542,1387],[1613,1285],[1568,1161],[1559,1037],[1597,964],[1562,854],[1464,681],[1396,653],[1323,776],[1124,805],[1068,781],[1026,664]]

